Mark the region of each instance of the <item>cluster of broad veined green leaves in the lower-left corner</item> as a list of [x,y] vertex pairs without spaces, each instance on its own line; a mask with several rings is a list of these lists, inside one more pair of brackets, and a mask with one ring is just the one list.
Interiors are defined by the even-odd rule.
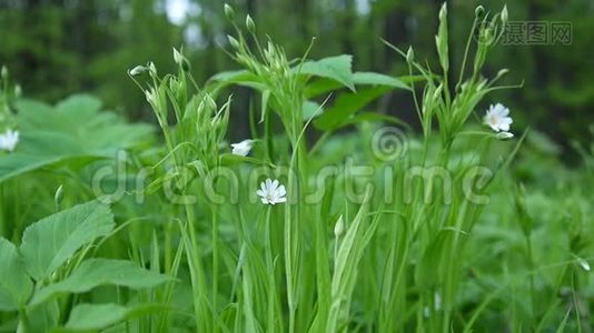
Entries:
[[[59,323],[63,310],[55,300],[58,295],[80,294],[101,285],[151,289],[174,281],[130,261],[83,260],[96,239],[110,235],[113,228],[110,209],[93,201],[31,224],[19,249],[0,238],[4,263],[0,269],[0,310],[19,311],[19,331],[49,331]],[[31,278],[36,281],[34,291]],[[127,309],[81,304],[72,310],[66,329],[105,329],[149,310],[146,305]],[[101,315],[101,321],[89,321],[93,315]]]

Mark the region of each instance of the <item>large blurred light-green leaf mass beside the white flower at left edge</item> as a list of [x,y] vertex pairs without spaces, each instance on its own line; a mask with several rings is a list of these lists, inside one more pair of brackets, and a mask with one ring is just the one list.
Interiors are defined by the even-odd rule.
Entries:
[[62,162],[112,159],[121,149],[149,142],[152,128],[127,124],[115,113],[99,111],[90,95],[72,95],[55,108],[19,100],[20,141],[0,157],[0,182]]

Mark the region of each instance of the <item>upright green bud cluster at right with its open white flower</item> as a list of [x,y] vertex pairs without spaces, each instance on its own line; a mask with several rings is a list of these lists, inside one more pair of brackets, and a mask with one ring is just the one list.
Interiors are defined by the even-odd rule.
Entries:
[[[507,8],[504,7],[501,13],[495,14],[491,19],[488,14],[484,13],[482,7],[477,8],[475,14],[472,32],[468,37],[461,64],[458,80],[455,84],[449,80],[452,68],[448,50],[447,3],[444,3],[439,11],[439,28],[435,37],[442,75],[416,62],[412,48],[404,53],[388,43],[389,47],[405,57],[410,74],[416,70],[425,78],[426,85],[423,91],[423,97],[418,99],[414,92],[417,114],[423,124],[423,133],[426,138],[432,135],[433,122],[434,120],[437,121],[442,143],[446,150],[449,149],[457,133],[461,132],[468,117],[476,110],[484,97],[497,89],[507,88],[495,85],[507,73],[506,69],[501,70],[491,80],[481,74],[488,51],[504,33],[504,27],[508,17]],[[475,33],[478,34],[477,39],[475,38]],[[472,67],[469,77],[465,79],[473,40],[476,40],[474,65]],[[507,117],[508,113],[508,109],[502,104],[496,104],[489,108],[485,117],[485,123],[497,132],[496,137],[498,139],[509,139],[513,137],[509,132],[512,119]]]

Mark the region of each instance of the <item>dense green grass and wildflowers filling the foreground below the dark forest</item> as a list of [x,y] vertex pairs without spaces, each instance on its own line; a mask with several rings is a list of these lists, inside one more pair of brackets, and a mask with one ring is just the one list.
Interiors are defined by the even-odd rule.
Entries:
[[[160,135],[89,95],[20,99],[6,75],[21,137],[0,155],[0,329],[590,332],[593,151],[570,170],[538,132],[483,123],[506,17],[477,9],[453,74],[444,6],[439,70],[388,46],[400,78],[289,61],[248,17],[229,37],[240,71],[199,87],[174,50],[177,74],[129,72]],[[237,84],[256,92],[239,147]],[[420,133],[364,111],[395,89]]]

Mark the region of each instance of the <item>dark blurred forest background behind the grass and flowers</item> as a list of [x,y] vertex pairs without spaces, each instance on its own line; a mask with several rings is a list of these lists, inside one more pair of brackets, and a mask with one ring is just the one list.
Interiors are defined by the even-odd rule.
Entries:
[[[349,53],[358,71],[407,74],[405,61],[386,48],[412,44],[417,59],[435,62],[434,34],[442,0],[228,0],[238,23],[246,13],[258,33],[300,57],[311,37],[313,58]],[[452,59],[459,63],[474,9],[498,11],[507,3],[511,21],[571,22],[571,44],[501,46],[485,74],[499,68],[503,83],[524,88],[491,95],[513,112],[519,132],[544,131],[571,160],[574,140],[590,141],[594,122],[594,0],[448,1]],[[24,95],[53,102],[88,91],[130,120],[150,121],[145,95],[127,77],[136,64],[154,61],[174,71],[171,47],[184,46],[198,82],[237,65],[225,53],[231,27],[221,0],[0,0],[0,64],[6,64]],[[434,65],[434,68],[437,68]],[[489,70],[492,72],[489,72]],[[232,137],[242,138],[249,101],[236,98]],[[386,97],[382,112],[415,121],[407,94]],[[485,109],[487,105],[484,105]],[[479,110],[483,113],[483,110]]]

